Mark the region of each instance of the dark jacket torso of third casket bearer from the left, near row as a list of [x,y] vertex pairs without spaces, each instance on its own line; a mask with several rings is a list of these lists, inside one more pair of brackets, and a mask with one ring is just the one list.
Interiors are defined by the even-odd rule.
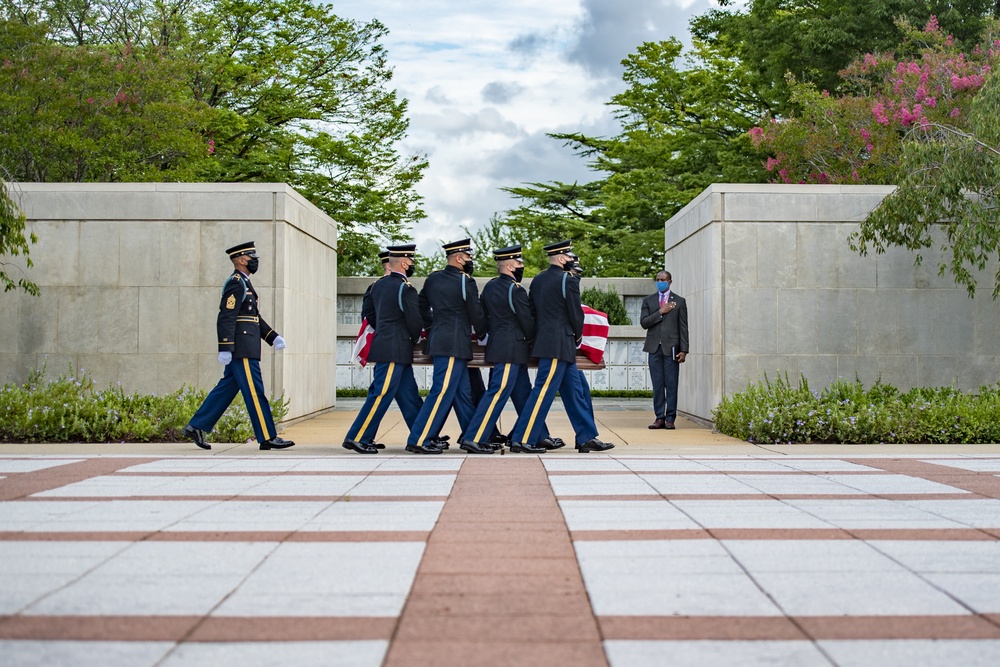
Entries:
[[511,276],[502,274],[486,283],[481,301],[490,327],[486,361],[528,363],[531,341],[535,338],[535,316],[527,290]]

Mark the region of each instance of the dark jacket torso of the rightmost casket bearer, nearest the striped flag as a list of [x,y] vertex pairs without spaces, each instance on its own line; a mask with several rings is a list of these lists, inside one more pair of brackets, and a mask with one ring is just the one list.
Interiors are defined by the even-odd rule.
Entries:
[[536,326],[531,356],[575,362],[577,343],[583,339],[580,279],[552,264],[531,279],[528,296]]

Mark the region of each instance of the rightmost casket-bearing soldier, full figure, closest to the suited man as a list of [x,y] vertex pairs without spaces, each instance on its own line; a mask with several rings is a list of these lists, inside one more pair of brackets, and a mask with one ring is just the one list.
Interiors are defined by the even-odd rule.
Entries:
[[576,348],[583,339],[583,308],[580,281],[566,270],[573,262],[572,250],[570,241],[545,246],[549,268],[531,281],[528,297],[535,308],[537,331],[531,354],[538,357],[538,373],[511,433],[511,451],[546,451],[538,442],[557,391],[576,432],[577,451],[605,451],[614,447],[597,438],[597,426],[580,396]]

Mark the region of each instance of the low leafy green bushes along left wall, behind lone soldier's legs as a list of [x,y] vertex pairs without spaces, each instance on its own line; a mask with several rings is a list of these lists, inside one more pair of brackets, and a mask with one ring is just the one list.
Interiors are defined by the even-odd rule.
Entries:
[[[45,368],[24,385],[0,387],[0,442],[177,442],[207,392],[181,387],[164,396],[126,394],[120,386],[97,391],[85,372],[70,368],[54,380]],[[276,422],[288,413],[284,396],[271,400]],[[245,442],[253,427],[242,396],[222,415],[209,439]]]

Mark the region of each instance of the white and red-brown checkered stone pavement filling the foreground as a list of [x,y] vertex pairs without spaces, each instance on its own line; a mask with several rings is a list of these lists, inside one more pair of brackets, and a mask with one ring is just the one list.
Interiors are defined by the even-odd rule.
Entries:
[[992,667],[1000,456],[0,457],[0,664],[279,663]]

